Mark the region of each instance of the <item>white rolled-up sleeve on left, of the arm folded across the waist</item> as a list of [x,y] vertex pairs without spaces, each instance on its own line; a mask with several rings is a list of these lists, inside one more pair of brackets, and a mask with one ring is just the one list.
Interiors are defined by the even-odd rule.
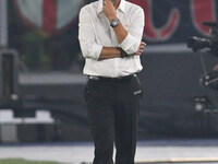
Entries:
[[86,8],[82,8],[78,22],[78,40],[84,58],[98,60],[102,46],[96,44],[95,38],[92,19]]

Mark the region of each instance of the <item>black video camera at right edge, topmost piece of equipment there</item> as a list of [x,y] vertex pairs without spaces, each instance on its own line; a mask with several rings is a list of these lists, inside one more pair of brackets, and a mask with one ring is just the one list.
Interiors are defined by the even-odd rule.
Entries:
[[192,48],[194,51],[209,48],[209,52],[218,57],[218,22],[203,22],[203,24],[211,27],[211,36],[209,38],[191,36],[187,39],[187,47]]

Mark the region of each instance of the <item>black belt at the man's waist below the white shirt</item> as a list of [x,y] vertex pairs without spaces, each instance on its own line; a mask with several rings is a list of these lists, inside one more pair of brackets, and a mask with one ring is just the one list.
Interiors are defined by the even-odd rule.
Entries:
[[104,80],[104,81],[124,81],[124,80],[130,80],[133,77],[137,77],[137,74],[130,74],[125,77],[118,77],[118,78],[108,78],[108,77],[97,77],[97,75],[88,75],[89,80]]

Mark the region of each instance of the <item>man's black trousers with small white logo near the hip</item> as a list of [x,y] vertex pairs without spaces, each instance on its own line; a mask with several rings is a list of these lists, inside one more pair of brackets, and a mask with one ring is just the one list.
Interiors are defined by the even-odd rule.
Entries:
[[95,144],[94,164],[134,164],[142,89],[137,75],[88,79],[85,89]]

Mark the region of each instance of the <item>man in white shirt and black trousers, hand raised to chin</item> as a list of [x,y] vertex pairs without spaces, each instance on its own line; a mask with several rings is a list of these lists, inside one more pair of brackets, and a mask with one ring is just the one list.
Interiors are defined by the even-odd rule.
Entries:
[[88,119],[94,164],[133,164],[142,89],[136,75],[144,11],[125,0],[98,0],[80,12],[78,39],[85,57]]

